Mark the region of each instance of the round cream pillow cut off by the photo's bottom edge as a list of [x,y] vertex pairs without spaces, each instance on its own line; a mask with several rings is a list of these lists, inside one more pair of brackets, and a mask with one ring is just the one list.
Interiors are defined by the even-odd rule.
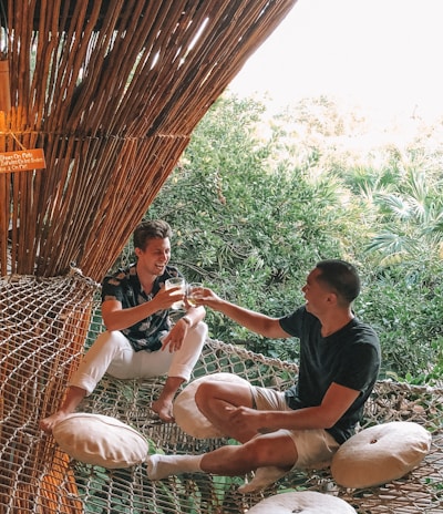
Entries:
[[337,496],[301,491],[281,493],[262,500],[247,511],[247,514],[356,514],[357,511]]

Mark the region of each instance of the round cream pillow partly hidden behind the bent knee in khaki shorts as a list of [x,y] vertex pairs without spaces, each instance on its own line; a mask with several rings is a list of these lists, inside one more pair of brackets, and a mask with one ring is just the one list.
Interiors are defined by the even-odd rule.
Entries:
[[174,401],[174,419],[178,426],[188,435],[196,439],[223,438],[223,434],[217,430],[198,409],[195,403],[195,393],[200,383],[204,382],[229,382],[235,387],[236,383],[249,382],[234,373],[214,373],[190,382],[177,395]]

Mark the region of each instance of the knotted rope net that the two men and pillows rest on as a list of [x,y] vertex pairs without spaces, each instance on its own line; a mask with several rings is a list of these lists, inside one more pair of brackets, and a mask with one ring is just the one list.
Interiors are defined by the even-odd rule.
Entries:
[[[414,421],[432,433],[432,448],[420,466],[379,487],[344,490],[326,469],[293,472],[260,493],[240,494],[237,487],[250,476],[186,474],[151,482],[143,464],[105,470],[70,459],[38,422],[58,408],[70,370],[103,330],[99,291],[99,285],[76,271],[59,278],[0,280],[2,514],[238,514],[288,490],[338,495],[360,514],[443,513],[443,390],[404,383],[379,382],[361,426]],[[214,372],[286,388],[292,384],[297,366],[209,339],[194,378]],[[153,452],[200,453],[228,442],[195,440],[176,424],[159,422],[150,405],[163,383],[164,378],[122,381],[105,376],[79,411],[111,415],[134,426]]]

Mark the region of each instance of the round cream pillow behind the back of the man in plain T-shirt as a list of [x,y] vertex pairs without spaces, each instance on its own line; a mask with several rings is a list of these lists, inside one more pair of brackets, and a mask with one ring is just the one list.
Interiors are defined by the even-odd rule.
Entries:
[[431,439],[423,426],[410,421],[370,426],[339,448],[332,458],[332,476],[344,487],[385,484],[415,467],[430,451]]

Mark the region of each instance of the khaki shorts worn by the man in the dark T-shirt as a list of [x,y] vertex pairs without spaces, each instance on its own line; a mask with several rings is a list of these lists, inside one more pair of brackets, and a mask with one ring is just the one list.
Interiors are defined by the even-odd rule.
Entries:
[[[268,388],[251,387],[254,407],[258,411],[290,411],[285,393]],[[289,435],[297,450],[298,460],[293,469],[324,467],[331,462],[339,443],[323,429],[278,430]]]

